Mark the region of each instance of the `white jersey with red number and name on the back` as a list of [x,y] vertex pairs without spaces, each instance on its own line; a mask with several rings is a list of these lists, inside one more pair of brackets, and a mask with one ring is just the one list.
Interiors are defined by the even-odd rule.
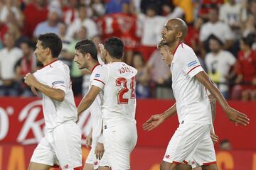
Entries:
[[136,124],[136,74],[137,69],[124,62],[112,62],[95,69],[92,86],[103,90],[102,118],[108,128],[122,123]]

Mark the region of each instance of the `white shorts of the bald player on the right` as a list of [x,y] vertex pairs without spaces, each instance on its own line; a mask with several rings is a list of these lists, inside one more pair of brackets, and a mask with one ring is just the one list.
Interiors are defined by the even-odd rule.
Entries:
[[188,163],[193,168],[203,164],[215,164],[210,125],[180,124],[171,137],[163,161],[172,164]]

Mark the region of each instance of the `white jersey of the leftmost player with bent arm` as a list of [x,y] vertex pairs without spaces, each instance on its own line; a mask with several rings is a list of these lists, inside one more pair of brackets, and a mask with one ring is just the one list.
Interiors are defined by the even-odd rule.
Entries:
[[38,69],[33,75],[42,84],[65,92],[65,98],[62,102],[43,94],[43,115],[46,130],[50,132],[61,123],[69,120],[76,121],[78,111],[75,106],[68,66],[59,60],[55,60],[42,69]]

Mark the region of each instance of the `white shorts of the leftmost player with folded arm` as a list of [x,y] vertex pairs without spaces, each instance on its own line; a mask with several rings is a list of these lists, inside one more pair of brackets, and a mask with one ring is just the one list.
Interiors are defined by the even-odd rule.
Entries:
[[82,166],[81,132],[78,125],[69,121],[58,125],[52,132],[46,132],[31,157],[31,162],[61,169],[75,169]]

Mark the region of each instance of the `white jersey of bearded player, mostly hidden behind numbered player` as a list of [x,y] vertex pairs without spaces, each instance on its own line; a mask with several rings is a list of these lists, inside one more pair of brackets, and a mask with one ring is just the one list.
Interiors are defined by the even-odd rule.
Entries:
[[[90,88],[93,79],[95,77],[98,77],[98,69],[101,67],[100,64],[95,65],[95,67],[92,69],[91,75],[90,75]],[[102,110],[101,110],[101,104],[102,104],[102,96],[103,91],[100,91],[100,94],[97,95],[95,98],[95,101],[93,101],[92,105],[90,106],[90,113],[92,116],[92,141],[103,143],[103,136],[101,135],[102,131]]]

